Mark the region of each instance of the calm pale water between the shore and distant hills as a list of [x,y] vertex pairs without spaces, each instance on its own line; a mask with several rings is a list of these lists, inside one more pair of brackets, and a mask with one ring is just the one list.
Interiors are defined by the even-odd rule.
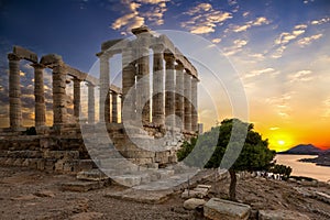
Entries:
[[327,182],[330,179],[330,167],[329,166],[317,166],[314,163],[298,162],[300,158],[314,158],[314,155],[285,155],[277,154],[277,164],[290,166],[293,168],[293,176],[307,176]]

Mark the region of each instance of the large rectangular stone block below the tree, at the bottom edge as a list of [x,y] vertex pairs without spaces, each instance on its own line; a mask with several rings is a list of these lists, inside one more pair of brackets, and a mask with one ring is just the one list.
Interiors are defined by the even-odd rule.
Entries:
[[204,206],[204,216],[212,220],[249,219],[251,207],[218,198],[211,198]]

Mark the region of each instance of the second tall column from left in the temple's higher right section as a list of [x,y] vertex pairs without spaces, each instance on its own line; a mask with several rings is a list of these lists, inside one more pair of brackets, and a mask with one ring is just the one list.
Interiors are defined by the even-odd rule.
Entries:
[[[128,47],[122,51],[122,99],[121,106],[123,107],[124,100],[130,92],[130,105],[125,106],[125,109],[122,108],[121,116],[123,120],[134,120],[135,119],[135,56],[132,44],[129,43]],[[125,112],[123,112],[125,111]]]

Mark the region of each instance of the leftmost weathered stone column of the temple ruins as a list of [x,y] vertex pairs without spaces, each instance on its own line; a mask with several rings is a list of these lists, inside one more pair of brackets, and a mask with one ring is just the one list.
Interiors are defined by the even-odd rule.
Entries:
[[22,127],[22,105],[20,85],[20,57],[8,54],[9,59],[9,119],[10,128],[18,130]]

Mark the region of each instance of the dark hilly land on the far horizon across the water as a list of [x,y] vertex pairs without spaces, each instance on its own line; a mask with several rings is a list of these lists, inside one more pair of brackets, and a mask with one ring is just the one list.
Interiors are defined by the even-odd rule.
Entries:
[[330,166],[330,150],[321,150],[312,144],[299,144],[277,154],[318,155],[315,158],[301,158],[299,162],[315,163],[319,166]]

